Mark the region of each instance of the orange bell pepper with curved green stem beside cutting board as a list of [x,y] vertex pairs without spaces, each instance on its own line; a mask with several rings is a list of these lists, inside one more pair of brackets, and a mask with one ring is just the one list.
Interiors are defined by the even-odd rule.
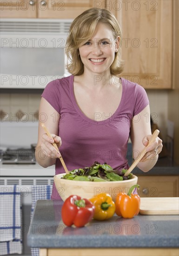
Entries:
[[127,194],[119,193],[116,197],[116,214],[123,218],[133,218],[139,214],[140,197],[139,195],[132,194],[133,189],[139,189],[139,185],[133,185]]

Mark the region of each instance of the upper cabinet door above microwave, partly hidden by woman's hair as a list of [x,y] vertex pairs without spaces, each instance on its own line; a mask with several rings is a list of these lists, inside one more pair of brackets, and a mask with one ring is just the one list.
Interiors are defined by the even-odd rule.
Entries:
[[105,0],[38,0],[38,18],[74,19],[85,10],[102,6]]

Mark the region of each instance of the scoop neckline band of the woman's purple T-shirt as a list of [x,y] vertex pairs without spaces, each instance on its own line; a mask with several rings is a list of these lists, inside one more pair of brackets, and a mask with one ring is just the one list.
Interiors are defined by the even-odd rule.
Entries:
[[113,113],[113,115],[111,115],[110,117],[106,118],[105,120],[102,120],[102,121],[95,121],[93,119],[90,119],[89,117],[87,117],[82,111],[81,109],[79,108],[78,104],[77,104],[77,101],[76,101],[76,98],[75,98],[75,95],[74,95],[74,75],[71,75],[71,78],[70,78],[70,94],[71,94],[71,99],[72,99],[72,102],[73,102],[73,106],[75,108],[75,110],[77,111],[77,113],[80,115],[80,117],[87,121],[88,123],[93,123],[93,124],[96,124],[96,125],[102,125],[102,124],[106,124],[106,123],[109,123],[111,122],[113,119],[115,119],[115,115],[116,113],[119,113],[120,111],[120,108],[121,108],[121,105],[123,104],[123,102],[125,101],[125,83],[124,83],[124,80],[122,77],[120,77],[121,79],[121,85],[122,85],[122,95],[121,95],[121,99],[120,99],[120,102],[119,102],[119,106],[118,108],[116,109],[116,111]]

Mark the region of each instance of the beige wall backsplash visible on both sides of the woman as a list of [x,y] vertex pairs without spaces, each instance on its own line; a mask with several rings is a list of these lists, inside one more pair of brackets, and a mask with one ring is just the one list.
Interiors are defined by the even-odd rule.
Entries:
[[[152,114],[165,141],[168,119],[168,91],[146,90]],[[40,105],[40,93],[16,94],[4,93],[0,95],[0,116],[2,121],[37,121]],[[147,115],[146,115],[147,118]]]

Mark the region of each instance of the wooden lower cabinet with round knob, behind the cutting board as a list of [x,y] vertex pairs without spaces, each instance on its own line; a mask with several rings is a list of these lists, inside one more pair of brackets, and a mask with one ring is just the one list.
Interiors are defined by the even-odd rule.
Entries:
[[139,195],[141,197],[173,197],[179,196],[178,175],[138,175],[140,185]]

